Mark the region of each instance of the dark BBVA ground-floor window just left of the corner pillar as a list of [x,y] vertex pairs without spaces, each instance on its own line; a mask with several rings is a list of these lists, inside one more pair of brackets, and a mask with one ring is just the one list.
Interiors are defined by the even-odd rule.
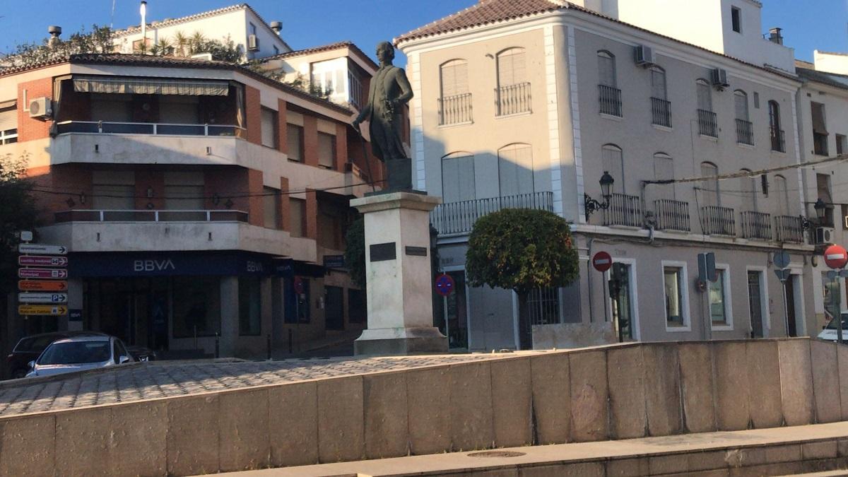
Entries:
[[174,338],[220,334],[220,278],[174,277]]

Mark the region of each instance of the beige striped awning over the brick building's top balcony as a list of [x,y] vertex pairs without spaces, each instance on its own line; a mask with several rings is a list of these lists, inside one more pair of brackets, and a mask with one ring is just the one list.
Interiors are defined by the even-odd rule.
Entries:
[[226,96],[226,81],[165,80],[126,76],[74,78],[77,93],[181,94],[184,96]]

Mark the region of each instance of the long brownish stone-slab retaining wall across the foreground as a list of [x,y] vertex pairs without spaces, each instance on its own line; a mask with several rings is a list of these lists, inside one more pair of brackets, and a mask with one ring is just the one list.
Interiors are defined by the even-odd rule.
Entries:
[[3,475],[187,475],[848,420],[848,347],[634,343],[0,419]]

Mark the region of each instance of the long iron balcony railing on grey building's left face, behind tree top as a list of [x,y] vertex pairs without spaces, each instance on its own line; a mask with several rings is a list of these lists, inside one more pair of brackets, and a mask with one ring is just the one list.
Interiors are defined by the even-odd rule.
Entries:
[[554,210],[554,193],[507,195],[490,199],[463,200],[438,205],[430,212],[430,222],[439,235],[469,233],[482,216],[502,209]]

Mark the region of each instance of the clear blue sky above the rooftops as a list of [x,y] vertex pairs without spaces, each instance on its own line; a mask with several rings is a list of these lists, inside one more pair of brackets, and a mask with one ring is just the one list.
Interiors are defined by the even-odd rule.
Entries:
[[[140,23],[137,0],[0,0],[0,52],[47,36],[47,25],[65,35],[81,25],[115,28]],[[292,48],[352,40],[366,53],[377,42],[466,8],[477,0],[252,0],[267,21],[281,20]],[[681,2],[689,0],[678,0]],[[112,5],[114,17],[112,14]],[[148,0],[148,19],[163,20],[238,3],[237,0]],[[799,59],[812,50],[848,52],[848,0],[762,0],[762,27],[784,28]],[[399,63],[403,63],[403,60]]]

